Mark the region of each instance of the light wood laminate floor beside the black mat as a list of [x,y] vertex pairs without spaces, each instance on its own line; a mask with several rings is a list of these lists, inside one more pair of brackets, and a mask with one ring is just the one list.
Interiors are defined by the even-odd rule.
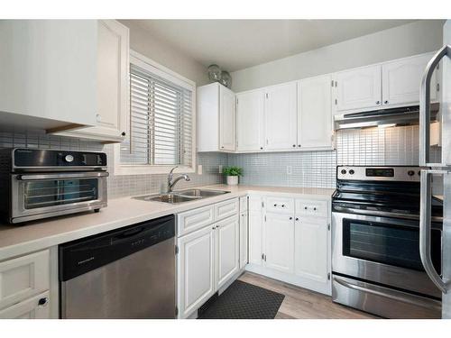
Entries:
[[351,307],[340,306],[330,297],[298,288],[275,279],[244,272],[240,280],[285,295],[276,319],[373,319],[377,318]]

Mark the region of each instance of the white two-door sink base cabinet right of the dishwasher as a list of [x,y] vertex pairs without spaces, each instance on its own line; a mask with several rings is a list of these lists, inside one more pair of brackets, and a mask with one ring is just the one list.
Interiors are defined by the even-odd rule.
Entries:
[[[235,215],[224,220],[218,219],[223,214],[215,213],[210,224],[203,224],[199,229],[196,215],[202,215],[204,210],[228,203],[238,206],[238,198],[220,202],[213,206],[189,210],[177,216],[178,229],[187,229],[183,222],[191,221],[189,233],[179,233],[178,246],[178,310],[179,318],[188,318],[202,306],[209,297],[223,288],[240,269],[240,217],[236,207]],[[204,217],[198,218],[199,224],[205,222]],[[188,230],[189,231],[189,230]]]

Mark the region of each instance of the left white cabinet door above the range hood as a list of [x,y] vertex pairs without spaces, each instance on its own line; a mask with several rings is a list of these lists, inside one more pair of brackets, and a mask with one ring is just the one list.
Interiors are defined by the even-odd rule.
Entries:
[[336,110],[378,108],[382,105],[381,66],[336,74]]

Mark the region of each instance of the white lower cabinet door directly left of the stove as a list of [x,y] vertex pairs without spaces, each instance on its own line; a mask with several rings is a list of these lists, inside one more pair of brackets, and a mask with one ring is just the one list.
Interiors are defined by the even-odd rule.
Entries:
[[327,282],[327,220],[296,217],[295,273],[315,282]]

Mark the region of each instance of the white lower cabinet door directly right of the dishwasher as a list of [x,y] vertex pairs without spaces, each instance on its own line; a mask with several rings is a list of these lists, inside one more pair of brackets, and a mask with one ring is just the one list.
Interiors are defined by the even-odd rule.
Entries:
[[186,318],[215,293],[215,229],[206,226],[178,239],[179,317]]

